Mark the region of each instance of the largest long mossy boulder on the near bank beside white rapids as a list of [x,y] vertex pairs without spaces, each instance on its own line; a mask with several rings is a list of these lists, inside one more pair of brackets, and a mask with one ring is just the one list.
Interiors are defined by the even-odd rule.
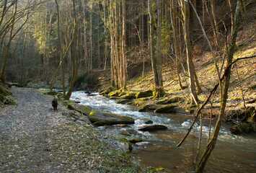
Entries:
[[132,117],[127,117],[123,115],[117,115],[111,112],[100,112],[97,110],[92,110],[89,113],[89,120],[98,126],[102,125],[118,125],[118,124],[134,124],[134,119]]

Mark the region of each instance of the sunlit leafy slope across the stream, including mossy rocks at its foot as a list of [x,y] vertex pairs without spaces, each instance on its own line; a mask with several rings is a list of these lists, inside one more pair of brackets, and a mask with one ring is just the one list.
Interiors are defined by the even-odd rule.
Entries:
[[[237,51],[234,54],[234,60],[256,55],[255,33],[256,22],[250,21],[247,25],[243,26],[237,39]],[[198,47],[202,48],[203,46],[198,45]],[[213,86],[218,83],[218,76],[213,62],[213,53],[203,50],[198,51],[198,53],[194,55],[194,63],[200,86],[203,90],[202,93],[198,94],[198,97],[201,101],[204,101],[211,92],[211,89],[213,89]],[[221,58],[218,59],[218,63],[219,66],[221,66]],[[122,104],[141,106],[139,107],[139,110],[141,111],[172,112],[176,111],[173,110],[175,106],[183,108],[188,112],[193,112],[196,107],[190,107],[189,104],[190,91],[188,89],[189,81],[187,73],[182,73],[182,86],[186,86],[185,89],[180,89],[176,69],[172,64],[164,65],[162,75],[164,80],[164,90],[167,92],[165,97],[167,98],[160,98],[158,100],[151,99],[150,97],[136,99],[136,94],[138,92],[154,89],[154,76],[152,71],[147,72],[144,76],[130,78],[127,87],[130,92],[112,92],[107,94],[107,97],[118,99],[118,102]],[[105,71],[105,74],[101,74],[100,81],[104,86],[109,84],[110,77],[107,71]],[[132,99],[132,101],[129,101],[129,99]],[[206,109],[203,110],[203,115],[206,115],[206,117],[210,117],[210,115],[216,117],[219,114],[219,100],[219,93],[216,92],[216,94],[211,97],[211,102],[206,105]],[[173,103],[175,105],[172,105]],[[248,130],[247,127],[242,127],[244,128],[244,131],[250,132],[253,131],[252,126],[256,127],[255,123],[250,125],[250,122],[255,122],[256,116],[253,111],[255,109],[252,108],[252,111],[249,111],[250,109],[248,109],[249,113],[247,113],[247,110],[244,112],[244,105],[250,107],[250,109],[256,107],[256,58],[237,61],[232,67],[229,99],[226,107],[226,121],[232,122],[231,124],[241,123],[242,126],[247,126],[249,129]],[[251,117],[249,118],[250,120],[248,117]],[[243,130],[237,130],[237,127],[235,127],[231,128],[231,131],[233,133],[241,133]]]

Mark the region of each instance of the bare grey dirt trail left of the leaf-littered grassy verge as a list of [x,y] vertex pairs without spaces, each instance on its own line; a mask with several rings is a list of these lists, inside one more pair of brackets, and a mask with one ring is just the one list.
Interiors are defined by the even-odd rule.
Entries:
[[[35,89],[14,88],[17,106],[0,112],[0,172],[58,172],[50,159],[48,131],[61,122],[51,98]],[[62,119],[63,120],[63,119]]]

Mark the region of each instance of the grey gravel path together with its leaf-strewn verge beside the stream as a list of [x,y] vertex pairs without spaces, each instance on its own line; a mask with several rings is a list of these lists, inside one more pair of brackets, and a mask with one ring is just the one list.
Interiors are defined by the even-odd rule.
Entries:
[[12,93],[17,106],[0,110],[0,172],[126,172],[134,168],[127,156],[100,141],[91,125],[65,117],[63,112],[69,111],[65,107],[53,112],[52,97],[25,88],[13,88]]

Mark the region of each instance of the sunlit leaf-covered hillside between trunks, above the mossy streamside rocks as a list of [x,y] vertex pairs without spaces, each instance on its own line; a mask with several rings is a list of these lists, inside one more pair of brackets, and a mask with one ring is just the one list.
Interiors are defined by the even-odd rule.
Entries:
[[[239,32],[237,41],[237,51],[234,59],[256,54],[256,22],[250,22],[244,25],[243,30]],[[202,47],[200,45],[200,47]],[[200,51],[194,57],[195,68],[200,81],[200,86],[203,92],[199,94],[200,100],[205,100],[213,86],[218,82],[216,68],[213,63],[213,54],[208,51]],[[221,66],[221,59],[219,59]],[[109,71],[105,71],[100,76],[101,86],[109,84]],[[190,98],[189,90],[180,89],[175,66],[172,64],[165,65],[162,70],[164,89],[167,94],[173,97]],[[182,85],[188,85],[187,74],[182,73]],[[228,107],[234,108],[243,105],[243,100],[247,102],[247,106],[255,106],[252,102],[256,99],[256,58],[250,58],[244,61],[238,61],[232,68],[231,85],[229,88]],[[144,76],[131,78],[128,81],[128,90],[145,91],[154,89],[154,77],[152,71],[149,71]],[[216,94],[213,99],[213,106],[219,106],[219,94]],[[249,103],[252,102],[252,103]]]

